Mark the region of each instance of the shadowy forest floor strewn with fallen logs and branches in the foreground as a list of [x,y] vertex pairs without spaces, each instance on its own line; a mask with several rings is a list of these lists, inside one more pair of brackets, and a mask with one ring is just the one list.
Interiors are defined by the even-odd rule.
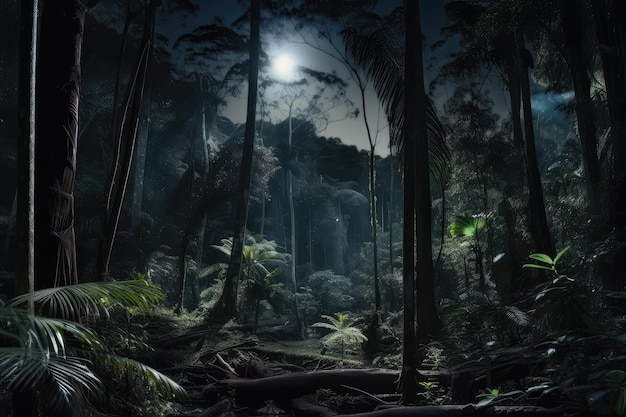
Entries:
[[[286,326],[260,328],[151,320],[161,335],[142,358],[184,386],[189,398],[172,403],[167,417],[213,416],[563,416],[532,406],[442,405],[451,374],[420,370],[420,407],[399,407],[398,366],[374,366],[360,354],[323,351],[319,340],[299,340]],[[164,336],[166,335],[166,336]],[[397,356],[397,352],[396,352]],[[397,357],[385,364],[397,364]],[[447,385],[447,386],[446,386]],[[462,388],[467,385],[462,382]],[[473,398],[473,397],[472,397]]]

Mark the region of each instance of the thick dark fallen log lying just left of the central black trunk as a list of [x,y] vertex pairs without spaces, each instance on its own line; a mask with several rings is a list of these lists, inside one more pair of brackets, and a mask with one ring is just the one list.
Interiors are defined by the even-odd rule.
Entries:
[[390,369],[332,369],[312,372],[293,372],[258,379],[229,378],[209,385],[203,396],[215,390],[231,390],[244,401],[292,399],[315,393],[318,389],[347,391],[344,386],[363,391],[389,394],[396,392],[398,371]]

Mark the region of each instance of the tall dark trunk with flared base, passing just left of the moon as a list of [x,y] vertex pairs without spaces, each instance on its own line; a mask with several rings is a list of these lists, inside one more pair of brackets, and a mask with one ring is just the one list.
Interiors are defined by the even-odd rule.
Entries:
[[214,317],[237,317],[237,292],[243,256],[244,234],[248,220],[250,181],[252,177],[252,156],[254,153],[254,131],[256,119],[256,101],[259,81],[259,53],[261,25],[261,0],[252,0],[250,5],[250,72],[248,74],[248,106],[246,130],[244,133],[239,190],[235,203],[235,225],[233,247],[226,271],[224,291],[216,305]]

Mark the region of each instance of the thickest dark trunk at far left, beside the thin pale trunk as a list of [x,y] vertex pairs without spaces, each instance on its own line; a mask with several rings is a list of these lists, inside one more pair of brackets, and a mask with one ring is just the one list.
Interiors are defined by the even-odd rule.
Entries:
[[78,282],[73,193],[85,12],[80,1],[48,2],[41,22],[35,149],[35,289]]

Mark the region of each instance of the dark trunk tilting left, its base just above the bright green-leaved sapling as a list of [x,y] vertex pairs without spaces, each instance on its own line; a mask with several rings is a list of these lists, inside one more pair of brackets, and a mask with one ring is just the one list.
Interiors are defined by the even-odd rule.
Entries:
[[[530,80],[528,66],[524,62],[523,54],[526,50],[524,37],[519,31],[515,32],[515,60],[519,75],[522,113],[524,117],[524,136],[526,139],[526,175],[528,179],[528,221],[530,233],[535,243],[535,250],[554,256],[554,246],[546,218],[546,208],[543,199],[541,174],[537,165],[535,150],[535,131],[533,124],[532,107],[530,102]],[[517,115],[513,115],[516,117]]]

